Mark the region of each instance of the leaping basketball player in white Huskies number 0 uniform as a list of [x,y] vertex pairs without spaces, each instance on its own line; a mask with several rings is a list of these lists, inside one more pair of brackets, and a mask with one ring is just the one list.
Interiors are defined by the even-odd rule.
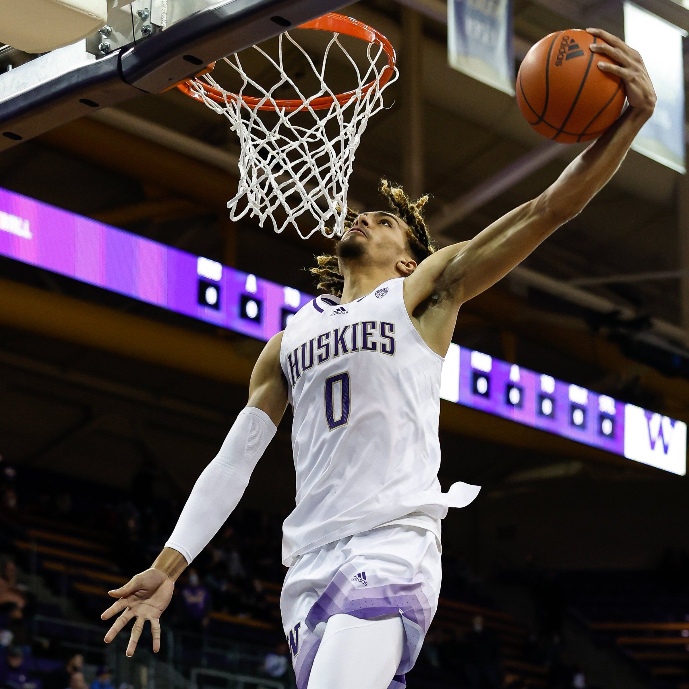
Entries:
[[415,203],[382,183],[394,213],[352,215],[336,256],[314,269],[329,291],[266,345],[249,402],[200,475],[150,569],[110,591],[122,613],[110,642],[136,618],[160,648],[159,618],[174,582],[239,502],[288,402],[296,507],[284,525],[289,566],[280,608],[299,689],[404,686],[440,593],[440,519],[475,486],[438,482],[440,370],[460,306],[521,263],[608,183],[655,107],[641,56],[620,39],[591,50],[616,65],[629,107],[538,198],[473,240],[434,251]]

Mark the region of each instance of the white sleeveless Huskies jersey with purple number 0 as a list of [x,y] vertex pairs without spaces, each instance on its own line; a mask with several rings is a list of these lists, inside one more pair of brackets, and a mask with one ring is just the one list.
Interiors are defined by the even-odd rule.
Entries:
[[282,335],[297,489],[283,528],[287,566],[297,555],[391,522],[421,518],[440,538],[438,520],[448,507],[465,506],[478,493],[466,484],[441,492],[443,358],[411,322],[403,285],[404,278],[388,280],[345,305],[319,296]]

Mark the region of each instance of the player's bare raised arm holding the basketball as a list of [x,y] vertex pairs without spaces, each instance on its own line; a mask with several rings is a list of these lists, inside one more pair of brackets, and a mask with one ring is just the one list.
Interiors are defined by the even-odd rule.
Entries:
[[[486,227],[471,241],[446,247],[426,258],[405,281],[405,301],[411,313],[425,300],[433,299],[434,304],[444,303],[456,314],[463,302],[506,276],[558,227],[581,213],[624,161],[635,136],[653,113],[655,91],[636,50],[612,34],[599,29],[589,31],[606,41],[592,45],[591,50],[618,63],[600,62],[598,67],[624,80],[629,102],[626,112],[540,196]],[[449,338],[444,339],[449,345]]]

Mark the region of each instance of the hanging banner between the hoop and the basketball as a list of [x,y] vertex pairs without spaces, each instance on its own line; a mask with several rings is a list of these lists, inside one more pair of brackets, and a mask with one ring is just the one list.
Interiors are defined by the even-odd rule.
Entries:
[[511,0],[448,0],[450,66],[513,96]]

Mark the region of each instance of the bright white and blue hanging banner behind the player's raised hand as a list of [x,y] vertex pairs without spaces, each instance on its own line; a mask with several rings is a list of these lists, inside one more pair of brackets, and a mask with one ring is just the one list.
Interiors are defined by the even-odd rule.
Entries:
[[624,36],[644,58],[658,103],[652,118],[632,145],[633,150],[686,173],[684,139],[684,54],[686,31],[643,10],[624,3]]

